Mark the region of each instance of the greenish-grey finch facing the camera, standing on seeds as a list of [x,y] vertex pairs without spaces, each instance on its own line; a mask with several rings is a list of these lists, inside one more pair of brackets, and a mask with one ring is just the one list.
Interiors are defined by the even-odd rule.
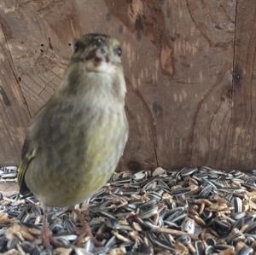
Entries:
[[122,48],[116,38],[87,33],[74,43],[61,84],[32,118],[18,168],[20,194],[34,194],[44,212],[42,242],[50,246],[47,215],[102,188],[124,153]]

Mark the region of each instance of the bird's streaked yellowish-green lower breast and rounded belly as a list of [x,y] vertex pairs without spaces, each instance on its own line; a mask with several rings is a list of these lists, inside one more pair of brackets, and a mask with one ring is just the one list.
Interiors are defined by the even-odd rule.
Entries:
[[50,125],[26,182],[45,205],[70,206],[102,188],[118,165],[127,141],[125,111],[90,108]]

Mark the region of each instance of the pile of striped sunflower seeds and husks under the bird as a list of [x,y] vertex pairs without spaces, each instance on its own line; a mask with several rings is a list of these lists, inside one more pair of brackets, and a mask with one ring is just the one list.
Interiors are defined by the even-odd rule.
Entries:
[[[0,169],[2,179],[14,174]],[[50,229],[63,247],[46,250],[38,200],[0,199],[3,254],[256,254],[256,171],[249,176],[203,166],[114,173],[87,201],[87,215],[85,204],[79,206],[101,246],[81,238],[74,211],[55,209]]]

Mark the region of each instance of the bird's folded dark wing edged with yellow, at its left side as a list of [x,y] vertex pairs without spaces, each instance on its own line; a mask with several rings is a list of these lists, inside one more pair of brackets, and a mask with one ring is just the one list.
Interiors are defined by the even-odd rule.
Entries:
[[26,186],[25,176],[28,165],[35,158],[37,150],[32,148],[28,138],[25,139],[21,151],[21,162],[18,168],[18,183],[20,186],[20,194],[28,194],[29,188]]

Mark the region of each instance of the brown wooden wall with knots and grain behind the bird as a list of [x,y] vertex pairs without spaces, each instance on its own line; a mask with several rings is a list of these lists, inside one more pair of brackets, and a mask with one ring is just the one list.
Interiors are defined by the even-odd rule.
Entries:
[[255,0],[1,0],[0,24],[1,165],[87,32],[123,43],[123,169],[256,165]]

